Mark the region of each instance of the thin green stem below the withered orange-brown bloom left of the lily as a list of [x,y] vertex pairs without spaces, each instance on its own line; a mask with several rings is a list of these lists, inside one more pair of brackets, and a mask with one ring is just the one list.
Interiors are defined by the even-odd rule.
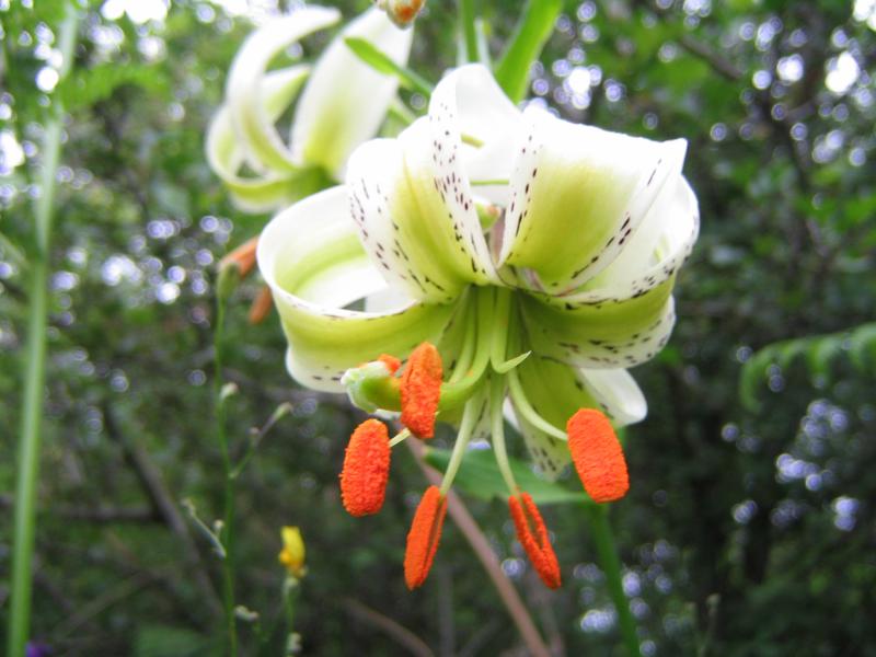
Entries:
[[216,330],[214,332],[214,399],[216,400],[216,435],[219,448],[222,451],[222,468],[224,471],[224,518],[219,538],[222,541],[226,555],[222,560],[222,602],[226,612],[226,629],[228,632],[228,654],[234,657],[238,654],[238,626],[234,616],[234,488],[235,480],[231,465],[231,451],[226,433],[226,403],[228,395],[222,394],[222,364],[224,360],[224,320],[226,301],[229,291],[223,289],[221,277],[217,285],[216,295]]

